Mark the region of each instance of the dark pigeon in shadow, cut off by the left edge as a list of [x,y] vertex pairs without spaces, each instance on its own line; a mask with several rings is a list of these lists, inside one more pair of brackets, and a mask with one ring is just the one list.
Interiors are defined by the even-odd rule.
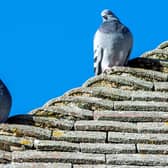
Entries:
[[12,105],[12,97],[5,84],[0,80],[0,123],[7,120]]

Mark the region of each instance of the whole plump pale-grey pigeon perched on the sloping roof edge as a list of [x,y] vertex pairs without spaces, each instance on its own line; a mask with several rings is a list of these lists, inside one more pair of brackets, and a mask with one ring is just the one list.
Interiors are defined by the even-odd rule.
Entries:
[[126,65],[133,45],[132,33],[114,13],[105,9],[101,16],[103,23],[94,36],[95,75]]

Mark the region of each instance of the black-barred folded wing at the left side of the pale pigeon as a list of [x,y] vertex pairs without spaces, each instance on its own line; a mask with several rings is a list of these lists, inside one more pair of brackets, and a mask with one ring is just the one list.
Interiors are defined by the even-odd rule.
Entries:
[[102,59],[103,59],[103,48],[96,49],[94,51],[94,73],[95,75],[99,75],[102,73]]

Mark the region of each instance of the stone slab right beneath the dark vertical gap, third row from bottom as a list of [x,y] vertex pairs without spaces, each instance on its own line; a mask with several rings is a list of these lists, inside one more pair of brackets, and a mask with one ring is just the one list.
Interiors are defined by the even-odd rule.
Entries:
[[81,143],[83,153],[135,153],[135,144]]

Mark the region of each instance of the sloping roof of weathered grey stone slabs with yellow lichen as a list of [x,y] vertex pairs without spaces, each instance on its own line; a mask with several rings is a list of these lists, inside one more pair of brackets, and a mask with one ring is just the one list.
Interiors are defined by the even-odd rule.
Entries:
[[0,124],[0,168],[168,167],[168,42]]

